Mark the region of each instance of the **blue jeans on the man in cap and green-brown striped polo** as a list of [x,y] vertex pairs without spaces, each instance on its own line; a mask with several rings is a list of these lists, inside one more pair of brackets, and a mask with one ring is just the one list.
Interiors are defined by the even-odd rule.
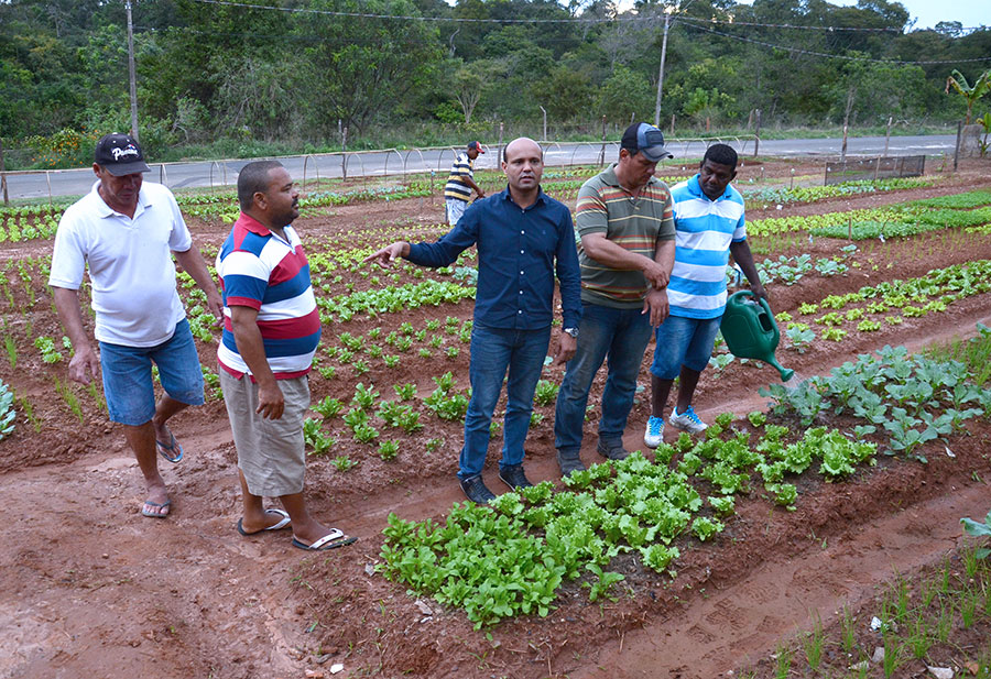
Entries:
[[599,439],[606,443],[622,441],[636,393],[640,363],[652,335],[650,316],[641,314],[640,308],[613,309],[584,302],[581,308],[578,351],[568,361],[554,415],[554,446],[569,453],[577,453],[581,448],[588,392],[606,359],[609,376],[602,392]]

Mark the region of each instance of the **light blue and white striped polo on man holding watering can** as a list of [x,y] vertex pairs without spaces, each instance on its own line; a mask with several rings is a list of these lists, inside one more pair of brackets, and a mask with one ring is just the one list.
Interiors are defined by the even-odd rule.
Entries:
[[675,265],[667,286],[672,316],[719,318],[726,309],[730,243],[747,240],[743,196],[732,186],[709,200],[698,175],[672,187],[677,229]]

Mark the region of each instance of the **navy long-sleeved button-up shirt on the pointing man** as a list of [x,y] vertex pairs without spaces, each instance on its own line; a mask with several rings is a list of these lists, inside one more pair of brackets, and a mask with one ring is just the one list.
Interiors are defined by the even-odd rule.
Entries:
[[521,208],[509,188],[468,206],[458,224],[436,243],[410,245],[407,260],[448,266],[478,245],[475,322],[490,328],[540,330],[554,318],[554,274],[560,283],[564,327],[581,318],[581,278],[571,212],[540,191]]

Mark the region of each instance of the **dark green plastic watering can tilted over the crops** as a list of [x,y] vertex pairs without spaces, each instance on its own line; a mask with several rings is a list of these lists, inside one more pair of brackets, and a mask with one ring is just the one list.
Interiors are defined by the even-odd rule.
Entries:
[[781,340],[781,332],[771,307],[765,299],[758,299],[751,291],[740,291],[726,300],[726,311],[719,326],[722,339],[730,352],[741,359],[758,359],[773,365],[781,373],[781,381],[787,382],[794,370],[782,368],[774,358],[774,350]]

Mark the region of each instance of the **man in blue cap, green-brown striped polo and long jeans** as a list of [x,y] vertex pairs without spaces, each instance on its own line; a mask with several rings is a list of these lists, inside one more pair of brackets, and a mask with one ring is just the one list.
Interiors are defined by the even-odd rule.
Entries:
[[592,380],[608,359],[597,450],[627,457],[623,430],[651,326],[667,316],[665,287],[674,263],[671,193],[654,178],[671,157],[664,134],[646,123],[623,133],[619,162],[578,191],[575,224],[581,237],[581,321],[578,349],[557,394],[554,445],[560,472],[585,469],[579,458],[585,406]]

